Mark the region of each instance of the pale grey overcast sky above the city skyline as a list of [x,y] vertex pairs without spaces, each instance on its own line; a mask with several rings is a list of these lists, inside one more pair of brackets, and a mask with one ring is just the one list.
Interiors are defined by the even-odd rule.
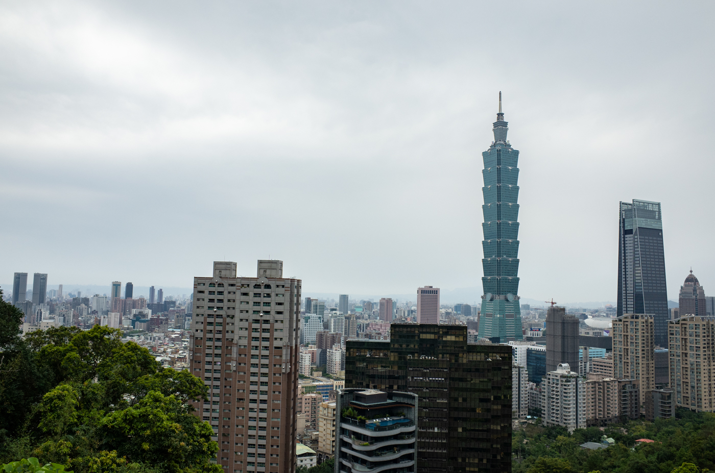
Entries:
[[[519,294],[616,299],[618,201],[715,294],[711,2],[0,4],[0,282],[480,292],[481,151],[521,151]],[[30,277],[31,279],[31,277]]]

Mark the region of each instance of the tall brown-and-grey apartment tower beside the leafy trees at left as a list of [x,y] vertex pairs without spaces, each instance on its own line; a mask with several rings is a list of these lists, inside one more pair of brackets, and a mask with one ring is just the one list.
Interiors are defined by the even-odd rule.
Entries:
[[194,277],[189,352],[209,397],[194,404],[219,443],[225,472],[295,472],[300,279],[259,260],[258,277],[214,262]]

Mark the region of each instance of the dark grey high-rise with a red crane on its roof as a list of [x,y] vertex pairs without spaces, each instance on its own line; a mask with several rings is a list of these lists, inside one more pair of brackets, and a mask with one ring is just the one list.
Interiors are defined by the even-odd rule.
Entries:
[[578,372],[578,324],[573,315],[566,315],[564,307],[551,306],[546,312],[546,372],[556,371],[561,363],[568,363]]

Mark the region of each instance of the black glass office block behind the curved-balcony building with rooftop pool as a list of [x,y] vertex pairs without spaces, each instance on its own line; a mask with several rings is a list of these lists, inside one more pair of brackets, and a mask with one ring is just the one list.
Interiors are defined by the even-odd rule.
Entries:
[[511,472],[511,347],[467,327],[393,324],[346,342],[345,388],[417,394],[418,472]]

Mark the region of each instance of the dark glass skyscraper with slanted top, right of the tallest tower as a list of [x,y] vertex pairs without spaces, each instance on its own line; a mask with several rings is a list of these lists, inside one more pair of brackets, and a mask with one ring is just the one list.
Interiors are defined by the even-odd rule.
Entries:
[[656,345],[668,346],[668,293],[660,202],[621,202],[618,216],[618,317],[652,314]]

